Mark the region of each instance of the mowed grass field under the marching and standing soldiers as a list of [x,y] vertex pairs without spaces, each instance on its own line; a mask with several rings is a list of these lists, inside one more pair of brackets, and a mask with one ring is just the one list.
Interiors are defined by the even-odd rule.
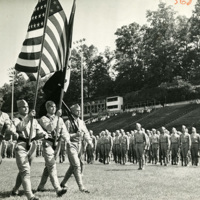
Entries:
[[[61,181],[69,164],[57,164],[58,177]],[[36,158],[31,168],[32,188],[35,191],[44,168],[43,158]],[[168,167],[147,165],[145,170],[137,170],[136,164],[119,165],[112,162],[109,165],[86,164],[83,176],[85,187],[90,194],[79,192],[74,177],[68,182],[69,190],[63,197],[57,198],[48,180],[46,192],[37,192],[41,199],[84,199],[84,200],[127,200],[127,199],[200,199],[200,167]],[[0,165],[0,199],[26,199],[20,188],[19,197],[10,197],[10,191],[15,184],[17,166],[14,159],[4,159]]]

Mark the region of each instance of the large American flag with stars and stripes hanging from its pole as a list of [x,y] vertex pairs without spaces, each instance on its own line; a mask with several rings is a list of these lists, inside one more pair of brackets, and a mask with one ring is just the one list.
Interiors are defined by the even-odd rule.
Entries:
[[41,77],[66,66],[67,18],[58,0],[51,0],[45,28],[47,1],[38,1],[15,65],[17,71],[27,73],[32,79],[37,77],[40,59]]

